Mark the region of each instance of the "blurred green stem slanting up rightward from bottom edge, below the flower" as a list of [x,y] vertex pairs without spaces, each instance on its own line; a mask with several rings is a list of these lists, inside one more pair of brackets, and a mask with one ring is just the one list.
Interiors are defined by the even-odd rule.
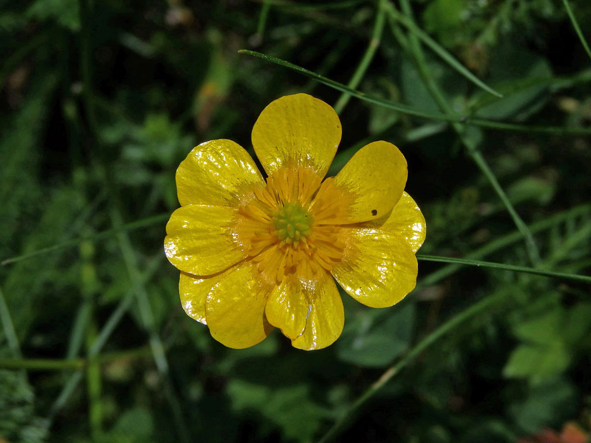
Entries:
[[418,357],[424,350],[432,346],[441,337],[455,330],[461,324],[463,324],[469,318],[480,314],[480,312],[497,304],[499,301],[505,298],[504,292],[495,292],[488,297],[476,302],[469,308],[454,315],[454,317],[447,320],[446,323],[442,324],[439,328],[434,330],[427,337],[423,338],[418,344],[416,344],[398,363],[395,363],[389,367],[380,377],[376,380],[363,394],[349,406],[347,411],[335,422],[335,424],[323,435],[318,443],[326,443],[331,439],[339,435],[340,432],[344,431],[345,428],[353,423],[353,415],[363,406],[369,399],[371,399],[379,390],[381,390],[396,374],[402,369],[408,366],[416,357]]

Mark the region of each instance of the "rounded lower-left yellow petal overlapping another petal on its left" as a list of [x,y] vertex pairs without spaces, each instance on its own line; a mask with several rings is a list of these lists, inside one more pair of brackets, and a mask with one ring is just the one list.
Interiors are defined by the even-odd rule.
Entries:
[[273,289],[252,260],[233,268],[209,291],[205,316],[212,337],[230,348],[247,348],[264,340],[273,327],[265,304]]

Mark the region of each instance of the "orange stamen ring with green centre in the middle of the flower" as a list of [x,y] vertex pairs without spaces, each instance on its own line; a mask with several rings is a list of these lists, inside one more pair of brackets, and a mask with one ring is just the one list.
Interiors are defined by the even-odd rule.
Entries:
[[265,188],[255,188],[255,198],[239,207],[239,240],[269,281],[280,283],[293,273],[313,279],[342,258],[340,228],[323,224],[342,210],[339,200],[329,195],[331,180],[321,185],[306,168],[281,168],[269,175]]

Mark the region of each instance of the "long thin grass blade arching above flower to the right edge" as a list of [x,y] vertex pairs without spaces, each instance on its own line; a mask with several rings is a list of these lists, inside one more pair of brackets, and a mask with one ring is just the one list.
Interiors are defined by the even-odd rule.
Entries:
[[353,97],[363,100],[374,105],[383,106],[384,108],[392,109],[398,112],[402,112],[408,115],[414,115],[421,118],[443,120],[446,122],[457,122],[469,125],[482,126],[484,128],[503,129],[504,131],[517,131],[517,132],[540,132],[540,133],[554,133],[558,135],[591,135],[591,128],[568,128],[563,126],[528,126],[519,125],[517,123],[505,123],[496,122],[494,120],[486,119],[473,119],[467,116],[449,116],[443,113],[430,113],[422,112],[410,108],[409,106],[401,105],[400,103],[394,103],[390,100],[385,100],[380,97],[372,96],[359,92],[358,90],[351,89],[345,84],[335,82],[335,80],[327,79],[319,74],[309,71],[301,66],[290,63],[289,61],[281,60],[281,58],[268,56],[267,54],[258,53],[256,51],[250,51],[247,49],[241,49],[238,51],[240,54],[247,54],[249,56],[262,58],[262,60],[269,61],[271,63],[278,64],[283,67],[287,67],[291,70],[297,71],[310,79],[314,79],[317,82],[326,84],[326,86],[332,87],[340,92],[346,92]]

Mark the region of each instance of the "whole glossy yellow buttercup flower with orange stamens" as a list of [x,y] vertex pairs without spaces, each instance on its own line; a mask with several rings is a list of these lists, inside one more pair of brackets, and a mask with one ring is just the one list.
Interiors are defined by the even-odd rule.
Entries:
[[345,321],[334,280],[375,308],[413,290],[426,227],[404,192],[407,162],[373,142],[323,181],[340,137],[329,105],[285,96],[252,129],[266,179],[225,139],[197,146],[178,167],[181,207],[164,250],[181,271],[184,310],[226,346],[253,346],[274,327],[294,347],[329,346]]

